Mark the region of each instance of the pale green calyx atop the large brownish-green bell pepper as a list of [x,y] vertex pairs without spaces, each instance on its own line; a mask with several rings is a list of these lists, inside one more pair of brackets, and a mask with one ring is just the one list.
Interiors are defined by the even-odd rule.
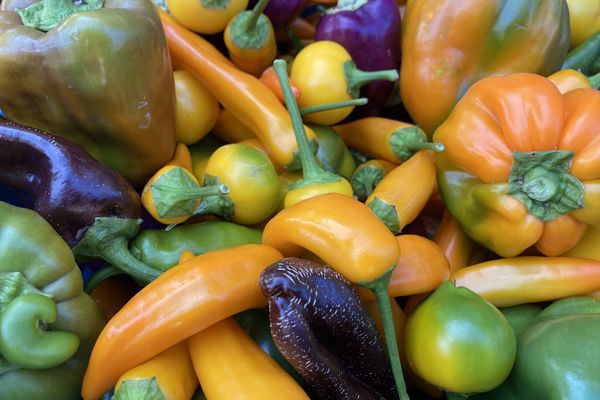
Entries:
[[103,0],[42,0],[16,12],[23,25],[48,32],[60,25],[71,14],[99,10]]

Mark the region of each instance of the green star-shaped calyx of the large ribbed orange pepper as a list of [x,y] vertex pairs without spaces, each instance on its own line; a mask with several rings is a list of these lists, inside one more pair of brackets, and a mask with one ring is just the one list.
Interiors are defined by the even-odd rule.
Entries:
[[568,150],[513,152],[508,194],[545,222],[583,208],[583,184],[569,174],[574,155]]

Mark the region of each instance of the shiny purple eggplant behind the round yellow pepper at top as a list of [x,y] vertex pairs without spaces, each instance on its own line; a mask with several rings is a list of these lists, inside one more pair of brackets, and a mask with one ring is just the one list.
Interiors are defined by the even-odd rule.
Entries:
[[[400,11],[395,0],[339,0],[321,15],[315,40],[331,40],[344,46],[363,71],[398,67]],[[378,115],[393,82],[375,81],[362,87],[361,97],[369,103],[357,108],[361,115]]]

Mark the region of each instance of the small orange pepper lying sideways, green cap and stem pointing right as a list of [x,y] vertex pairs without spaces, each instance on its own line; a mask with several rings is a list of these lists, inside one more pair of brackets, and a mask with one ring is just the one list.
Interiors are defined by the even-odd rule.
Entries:
[[444,150],[443,144],[428,142],[418,126],[389,118],[365,117],[332,128],[348,146],[397,164],[420,150]]

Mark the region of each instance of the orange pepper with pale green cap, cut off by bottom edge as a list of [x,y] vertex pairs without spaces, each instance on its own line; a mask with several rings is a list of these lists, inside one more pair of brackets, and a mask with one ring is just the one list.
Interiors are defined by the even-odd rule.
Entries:
[[111,400],[189,399],[197,387],[188,346],[182,341],[125,372]]

